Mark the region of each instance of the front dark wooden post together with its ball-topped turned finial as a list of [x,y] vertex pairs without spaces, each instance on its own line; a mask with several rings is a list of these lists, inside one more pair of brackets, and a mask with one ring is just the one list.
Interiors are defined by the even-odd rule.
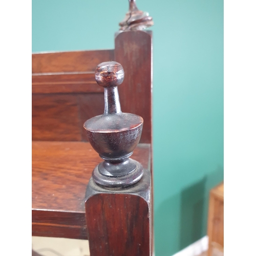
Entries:
[[117,86],[120,63],[103,62],[95,78],[104,87],[103,115],[84,123],[89,142],[104,159],[93,170],[86,191],[86,220],[92,256],[151,255],[151,173],[130,159],[143,119],[122,113]]

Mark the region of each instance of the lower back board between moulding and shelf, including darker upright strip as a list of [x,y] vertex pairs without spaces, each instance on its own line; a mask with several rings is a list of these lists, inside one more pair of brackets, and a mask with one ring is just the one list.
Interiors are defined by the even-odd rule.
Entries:
[[84,121],[103,111],[103,93],[33,94],[32,140],[87,141]]

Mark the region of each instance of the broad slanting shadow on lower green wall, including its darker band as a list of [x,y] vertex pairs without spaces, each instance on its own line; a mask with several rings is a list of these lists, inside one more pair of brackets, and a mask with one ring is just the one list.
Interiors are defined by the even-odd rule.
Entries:
[[156,256],[173,255],[206,235],[209,191],[222,181],[218,167],[162,202],[155,211]]

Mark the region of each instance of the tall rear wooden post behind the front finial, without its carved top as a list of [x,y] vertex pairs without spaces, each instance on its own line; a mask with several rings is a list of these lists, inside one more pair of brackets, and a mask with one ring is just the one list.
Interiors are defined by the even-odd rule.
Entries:
[[152,32],[125,31],[115,39],[115,61],[124,69],[118,87],[122,112],[144,119],[141,143],[151,143],[152,123]]

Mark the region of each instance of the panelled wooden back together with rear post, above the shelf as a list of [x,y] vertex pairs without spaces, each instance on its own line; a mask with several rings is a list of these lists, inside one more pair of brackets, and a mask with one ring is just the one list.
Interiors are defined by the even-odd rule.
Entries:
[[124,31],[115,50],[32,54],[32,140],[88,141],[84,121],[103,114],[103,89],[94,72],[115,60],[125,77],[118,88],[122,112],[144,119],[140,143],[152,141],[152,33]]

